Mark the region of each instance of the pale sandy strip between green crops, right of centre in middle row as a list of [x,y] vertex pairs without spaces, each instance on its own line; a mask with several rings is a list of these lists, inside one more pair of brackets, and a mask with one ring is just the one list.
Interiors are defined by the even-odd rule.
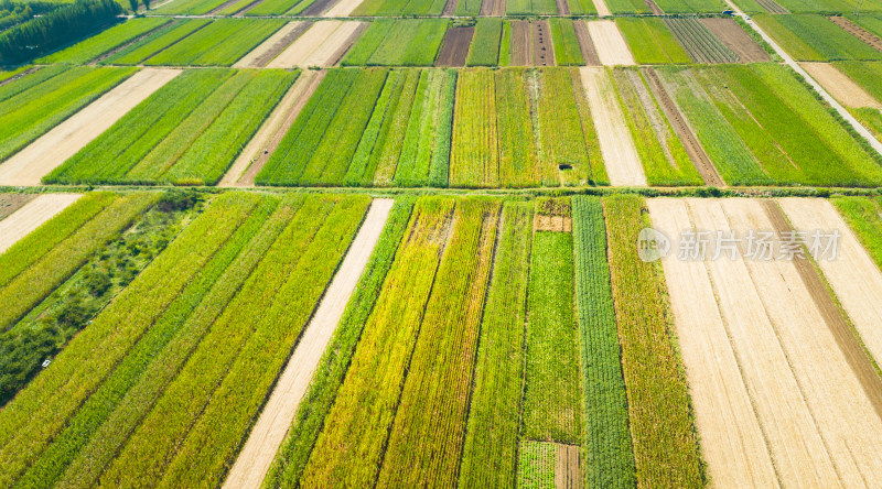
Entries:
[[580,68],[580,73],[610,183],[619,186],[646,186],[646,175],[625,124],[622,108],[613,95],[609,73],[604,68],[589,66]]

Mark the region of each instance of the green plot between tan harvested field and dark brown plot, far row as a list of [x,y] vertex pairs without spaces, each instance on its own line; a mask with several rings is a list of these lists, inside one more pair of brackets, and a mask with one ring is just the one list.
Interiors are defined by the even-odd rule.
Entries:
[[380,19],[358,40],[343,66],[433,66],[447,19]]

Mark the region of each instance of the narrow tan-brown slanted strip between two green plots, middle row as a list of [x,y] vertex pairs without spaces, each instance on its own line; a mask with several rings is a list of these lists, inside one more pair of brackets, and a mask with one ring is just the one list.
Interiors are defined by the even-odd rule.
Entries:
[[304,70],[220,180],[220,187],[249,187],[276,151],[288,128],[306,105],[327,72]]

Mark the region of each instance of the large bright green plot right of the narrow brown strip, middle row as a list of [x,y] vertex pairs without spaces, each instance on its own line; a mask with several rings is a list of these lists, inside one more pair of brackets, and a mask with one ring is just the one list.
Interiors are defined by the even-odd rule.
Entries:
[[774,64],[656,68],[730,185],[874,186],[879,157]]

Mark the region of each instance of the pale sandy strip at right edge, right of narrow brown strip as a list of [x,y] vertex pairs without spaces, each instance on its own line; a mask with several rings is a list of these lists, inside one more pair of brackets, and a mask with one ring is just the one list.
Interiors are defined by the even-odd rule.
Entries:
[[836,260],[817,260],[870,354],[882,362],[882,272],[836,208],[825,199],[778,200],[794,228],[840,233]]

